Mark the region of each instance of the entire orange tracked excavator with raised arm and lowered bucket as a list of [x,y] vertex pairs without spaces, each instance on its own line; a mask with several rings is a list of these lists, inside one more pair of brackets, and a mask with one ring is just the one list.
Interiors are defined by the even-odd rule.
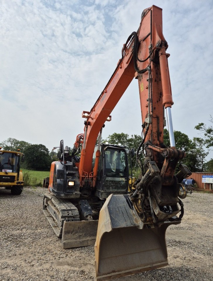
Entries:
[[[44,214],[62,236],[63,248],[95,244],[97,280],[168,265],[166,229],[183,217],[179,191],[191,172],[178,164],[185,152],[175,148],[167,48],[162,9],[145,9],[106,87],[92,109],[83,111],[84,133],[77,136],[72,153],[61,141],[59,161],[51,165]],[[136,152],[141,175],[128,192],[128,150],[101,143],[101,135],[133,78],[138,80],[142,115]],[[164,145],[164,112],[170,147]]]

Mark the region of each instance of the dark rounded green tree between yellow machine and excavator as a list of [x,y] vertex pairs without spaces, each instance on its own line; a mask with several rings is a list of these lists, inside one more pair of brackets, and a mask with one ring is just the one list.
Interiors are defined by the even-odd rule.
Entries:
[[49,150],[43,144],[32,144],[25,149],[27,169],[47,171],[51,165]]

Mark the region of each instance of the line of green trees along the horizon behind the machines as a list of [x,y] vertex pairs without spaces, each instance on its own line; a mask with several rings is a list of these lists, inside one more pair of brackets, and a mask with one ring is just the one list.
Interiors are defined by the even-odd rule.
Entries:
[[[212,116],[209,121],[213,123]],[[186,152],[186,157],[182,160],[182,163],[187,165],[192,172],[213,172],[213,159],[206,161],[206,157],[213,147],[213,127],[207,127],[204,123],[199,123],[195,126],[195,129],[203,134],[202,138],[196,137],[191,140],[186,134],[174,131],[176,148]],[[121,143],[129,149],[133,148],[136,152],[141,140],[142,137],[139,135],[129,136],[125,133],[113,133],[106,139],[102,139],[102,142]],[[170,146],[167,129],[164,129],[164,144]],[[49,152],[48,148],[43,144],[31,144],[15,138],[2,141],[0,146],[4,150],[17,151],[17,149],[20,149],[25,154],[25,162],[21,164],[21,167],[26,169],[49,170],[51,162],[55,161],[54,156],[57,156],[57,153]],[[143,154],[141,154],[141,157],[143,158]],[[133,168],[136,168],[135,156],[132,162]]]

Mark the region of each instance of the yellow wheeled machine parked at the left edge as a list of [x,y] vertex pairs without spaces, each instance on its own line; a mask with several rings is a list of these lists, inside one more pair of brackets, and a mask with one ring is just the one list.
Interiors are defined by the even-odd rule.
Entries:
[[1,150],[0,147],[0,187],[10,189],[11,194],[20,195],[23,190],[23,174],[20,171],[20,160],[24,154],[18,151]]

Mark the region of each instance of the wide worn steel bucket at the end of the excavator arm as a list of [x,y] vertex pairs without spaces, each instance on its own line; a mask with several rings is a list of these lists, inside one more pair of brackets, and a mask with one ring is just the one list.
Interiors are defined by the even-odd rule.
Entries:
[[98,281],[168,265],[165,232],[171,223],[147,228],[127,197],[111,194],[100,211],[95,242]]

